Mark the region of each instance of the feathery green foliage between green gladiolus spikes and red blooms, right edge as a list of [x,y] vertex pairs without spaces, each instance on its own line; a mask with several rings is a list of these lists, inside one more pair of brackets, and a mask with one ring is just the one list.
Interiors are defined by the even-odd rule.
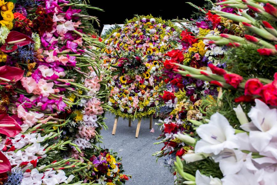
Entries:
[[247,78],[272,79],[277,71],[277,56],[259,55],[257,49],[251,45],[231,48],[223,59],[226,70]]

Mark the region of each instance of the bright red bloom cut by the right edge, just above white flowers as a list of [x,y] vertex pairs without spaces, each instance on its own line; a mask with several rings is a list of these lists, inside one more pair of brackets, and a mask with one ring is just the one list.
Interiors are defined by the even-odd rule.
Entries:
[[271,84],[266,84],[262,88],[263,100],[269,105],[277,105],[277,88]]

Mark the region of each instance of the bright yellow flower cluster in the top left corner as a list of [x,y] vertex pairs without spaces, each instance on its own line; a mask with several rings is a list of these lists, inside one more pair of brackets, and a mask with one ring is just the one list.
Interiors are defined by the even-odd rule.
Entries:
[[2,16],[2,20],[0,20],[0,24],[2,26],[6,26],[9,30],[11,30],[14,26],[13,25],[14,14],[12,12],[12,10],[14,9],[14,3],[0,0],[0,8],[1,8],[1,16]]

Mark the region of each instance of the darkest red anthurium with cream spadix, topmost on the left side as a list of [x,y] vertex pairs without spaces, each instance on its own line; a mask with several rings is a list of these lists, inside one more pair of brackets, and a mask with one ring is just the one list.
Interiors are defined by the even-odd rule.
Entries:
[[18,31],[11,31],[5,40],[5,44],[0,49],[5,53],[10,53],[15,51],[18,46],[25,46],[30,43],[34,43],[34,41],[27,35]]

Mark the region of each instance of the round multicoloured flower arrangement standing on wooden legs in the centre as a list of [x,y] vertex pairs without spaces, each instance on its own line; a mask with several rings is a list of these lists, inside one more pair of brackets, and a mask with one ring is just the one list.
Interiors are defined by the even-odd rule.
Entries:
[[103,42],[103,58],[115,75],[108,87],[110,111],[120,117],[147,117],[155,113],[156,92],[162,81],[163,52],[169,50],[174,25],[161,18],[138,16],[117,28]]

